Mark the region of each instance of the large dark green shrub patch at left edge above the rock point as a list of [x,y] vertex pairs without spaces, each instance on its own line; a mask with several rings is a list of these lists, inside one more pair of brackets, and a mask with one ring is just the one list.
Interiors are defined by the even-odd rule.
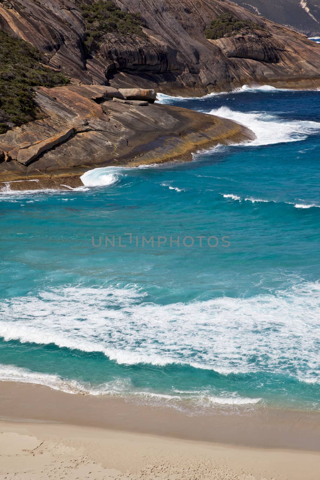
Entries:
[[0,30],[0,133],[36,118],[32,87],[70,82],[62,73],[41,65],[43,61],[37,48]]

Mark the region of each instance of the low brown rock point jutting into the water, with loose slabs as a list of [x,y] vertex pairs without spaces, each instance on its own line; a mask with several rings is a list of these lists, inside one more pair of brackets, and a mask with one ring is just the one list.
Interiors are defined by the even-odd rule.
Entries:
[[39,87],[36,103],[44,118],[0,135],[0,182],[76,186],[91,168],[188,159],[205,146],[254,138],[231,120],[148,102],[114,102],[110,93],[97,85]]

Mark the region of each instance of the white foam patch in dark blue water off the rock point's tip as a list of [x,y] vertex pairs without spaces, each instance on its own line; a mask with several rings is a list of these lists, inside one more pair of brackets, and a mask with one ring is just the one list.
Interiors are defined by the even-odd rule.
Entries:
[[307,120],[281,120],[266,113],[243,113],[228,107],[214,108],[211,115],[234,120],[256,134],[249,145],[260,146],[305,140],[309,135],[320,132],[320,123]]

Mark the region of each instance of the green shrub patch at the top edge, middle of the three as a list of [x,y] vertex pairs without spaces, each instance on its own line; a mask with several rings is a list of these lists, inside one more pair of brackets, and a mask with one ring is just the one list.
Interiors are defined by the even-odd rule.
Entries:
[[98,0],[80,3],[86,22],[85,51],[87,55],[98,50],[106,33],[145,36],[137,13],[123,12],[113,1]]

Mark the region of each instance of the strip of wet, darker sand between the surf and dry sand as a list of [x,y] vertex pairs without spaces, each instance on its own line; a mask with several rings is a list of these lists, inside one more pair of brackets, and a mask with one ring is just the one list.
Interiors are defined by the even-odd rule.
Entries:
[[257,406],[187,415],[120,396],[70,394],[19,382],[1,381],[1,386],[1,421],[68,423],[197,442],[320,452],[317,411]]

